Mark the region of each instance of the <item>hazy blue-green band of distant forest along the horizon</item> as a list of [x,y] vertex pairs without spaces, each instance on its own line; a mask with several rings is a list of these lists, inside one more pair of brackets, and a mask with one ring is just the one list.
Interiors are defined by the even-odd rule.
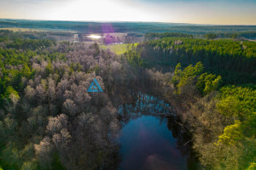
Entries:
[[32,28],[32,29],[61,29],[80,33],[107,32],[182,32],[189,34],[206,33],[236,33],[256,31],[256,26],[203,26],[179,23],[155,22],[77,22],[49,20],[0,20],[0,27]]

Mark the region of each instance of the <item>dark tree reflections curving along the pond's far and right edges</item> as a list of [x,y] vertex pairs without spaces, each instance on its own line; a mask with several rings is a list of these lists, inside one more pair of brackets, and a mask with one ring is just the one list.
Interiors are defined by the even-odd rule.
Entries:
[[165,123],[172,131],[173,137],[177,139],[177,149],[183,156],[188,156],[188,165],[191,161],[195,164],[195,156],[191,153],[191,136],[180,123],[179,118],[172,113],[172,106],[158,97],[141,92],[131,95],[133,97],[131,103],[119,105],[119,121],[125,126],[130,120],[140,116],[155,116],[160,120],[160,124]]

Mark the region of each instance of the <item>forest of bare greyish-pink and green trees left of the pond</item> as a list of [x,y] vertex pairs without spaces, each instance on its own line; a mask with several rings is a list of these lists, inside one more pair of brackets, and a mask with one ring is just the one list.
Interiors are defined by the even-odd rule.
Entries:
[[[109,94],[125,79],[120,58],[97,44],[0,34],[11,35],[0,48],[1,167],[115,169],[119,122]],[[103,93],[86,92],[94,77]]]

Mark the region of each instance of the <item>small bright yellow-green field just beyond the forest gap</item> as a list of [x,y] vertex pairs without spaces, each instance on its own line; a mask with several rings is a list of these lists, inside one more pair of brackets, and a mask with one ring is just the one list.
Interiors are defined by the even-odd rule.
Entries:
[[[131,43],[123,44],[111,44],[111,45],[101,45],[103,49],[110,49],[115,54],[124,54],[128,49],[131,49]],[[137,43],[134,43],[134,47],[137,46]]]

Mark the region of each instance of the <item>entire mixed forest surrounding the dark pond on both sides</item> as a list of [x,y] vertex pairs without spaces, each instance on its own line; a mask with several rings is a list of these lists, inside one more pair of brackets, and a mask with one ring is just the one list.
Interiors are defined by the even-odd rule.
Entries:
[[42,34],[0,31],[0,169],[117,169],[131,89],[172,104],[198,169],[256,168],[256,42],[148,34],[116,55]]

